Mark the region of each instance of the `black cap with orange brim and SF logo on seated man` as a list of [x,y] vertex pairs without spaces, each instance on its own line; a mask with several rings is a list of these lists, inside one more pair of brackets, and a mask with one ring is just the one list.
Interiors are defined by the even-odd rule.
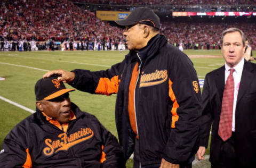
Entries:
[[76,89],[67,89],[63,82],[58,80],[58,77],[40,79],[35,85],[37,101],[42,99],[50,100],[74,90]]

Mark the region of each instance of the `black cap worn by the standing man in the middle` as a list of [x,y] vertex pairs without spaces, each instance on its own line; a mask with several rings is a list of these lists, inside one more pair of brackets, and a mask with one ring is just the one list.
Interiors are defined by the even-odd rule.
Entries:
[[126,19],[116,20],[115,22],[119,26],[132,26],[137,23],[147,24],[157,29],[160,29],[161,26],[159,17],[148,7],[138,7]]

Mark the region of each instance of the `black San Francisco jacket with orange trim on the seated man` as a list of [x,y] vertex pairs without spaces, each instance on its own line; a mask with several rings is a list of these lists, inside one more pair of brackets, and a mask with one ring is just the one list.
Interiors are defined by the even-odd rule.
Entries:
[[98,119],[75,104],[67,132],[37,112],[17,124],[4,139],[0,167],[123,167],[117,139]]

